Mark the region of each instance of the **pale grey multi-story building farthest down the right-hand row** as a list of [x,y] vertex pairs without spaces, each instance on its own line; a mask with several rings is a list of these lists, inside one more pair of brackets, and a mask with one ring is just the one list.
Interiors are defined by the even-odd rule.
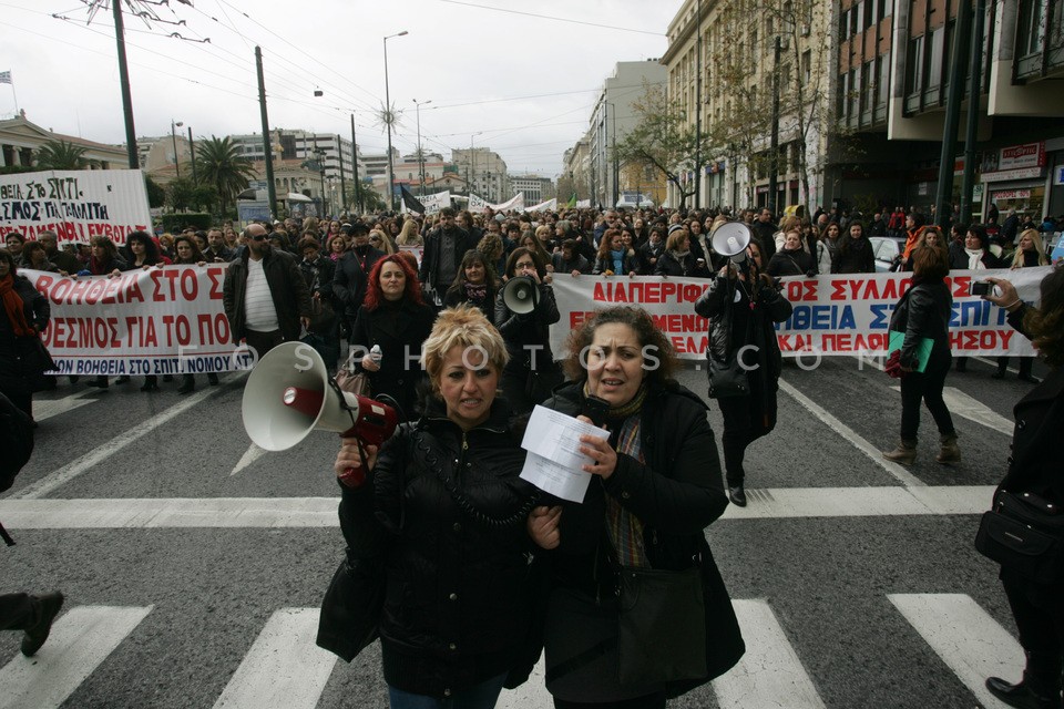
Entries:
[[593,204],[612,206],[621,192],[633,188],[621,184],[621,165],[614,158],[614,147],[640,122],[634,104],[644,97],[647,88],[663,86],[667,73],[656,59],[617,62],[613,75],[603,82],[587,132],[587,176]]

